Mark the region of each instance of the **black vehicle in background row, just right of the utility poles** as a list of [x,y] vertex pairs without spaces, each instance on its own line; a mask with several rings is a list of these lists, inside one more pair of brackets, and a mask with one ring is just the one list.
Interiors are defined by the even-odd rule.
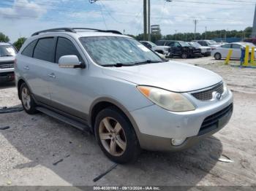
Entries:
[[195,48],[183,41],[159,40],[157,45],[171,47],[171,56],[179,56],[181,58],[201,57],[199,48]]

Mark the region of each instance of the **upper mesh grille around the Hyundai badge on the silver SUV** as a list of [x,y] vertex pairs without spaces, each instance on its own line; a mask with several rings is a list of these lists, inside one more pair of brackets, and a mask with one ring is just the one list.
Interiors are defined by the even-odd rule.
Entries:
[[222,94],[224,92],[223,84],[220,83],[214,87],[212,87],[209,90],[203,90],[196,93],[191,93],[195,98],[197,98],[200,101],[209,101],[212,99],[212,93],[217,92]]

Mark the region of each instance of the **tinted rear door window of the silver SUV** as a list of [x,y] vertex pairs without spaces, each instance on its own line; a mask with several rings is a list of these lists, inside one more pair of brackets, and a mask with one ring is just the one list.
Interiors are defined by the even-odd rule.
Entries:
[[34,48],[33,57],[42,61],[54,62],[54,39],[39,39]]

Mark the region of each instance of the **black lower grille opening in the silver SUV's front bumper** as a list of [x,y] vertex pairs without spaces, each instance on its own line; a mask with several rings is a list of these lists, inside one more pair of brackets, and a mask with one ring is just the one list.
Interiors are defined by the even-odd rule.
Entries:
[[225,109],[222,109],[221,111],[206,117],[206,119],[203,120],[198,136],[201,136],[210,132],[211,130],[219,128],[219,119],[221,119],[225,116],[225,114],[230,112],[233,112],[233,104],[230,104],[229,106],[225,107]]

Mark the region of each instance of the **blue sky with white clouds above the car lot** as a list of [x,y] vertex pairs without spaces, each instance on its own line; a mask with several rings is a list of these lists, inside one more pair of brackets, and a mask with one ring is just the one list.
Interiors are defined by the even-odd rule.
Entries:
[[[151,0],[151,25],[162,34],[244,30],[252,26],[256,0]],[[143,0],[0,0],[0,32],[20,36],[58,27],[112,29],[143,33]]]

